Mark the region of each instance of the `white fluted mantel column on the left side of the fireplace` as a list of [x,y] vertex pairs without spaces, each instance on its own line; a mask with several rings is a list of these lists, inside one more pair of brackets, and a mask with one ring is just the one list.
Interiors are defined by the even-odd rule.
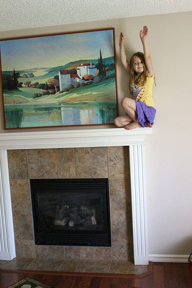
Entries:
[[0,259],[16,257],[7,151],[0,150]]

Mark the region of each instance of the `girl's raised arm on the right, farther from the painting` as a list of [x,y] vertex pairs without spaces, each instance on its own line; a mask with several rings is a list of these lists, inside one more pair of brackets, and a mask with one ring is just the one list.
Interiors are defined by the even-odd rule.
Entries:
[[151,62],[151,53],[149,50],[149,46],[147,43],[147,36],[148,36],[148,27],[144,26],[143,30],[140,30],[139,34],[142,44],[143,44],[143,51],[144,51],[144,58],[145,58],[145,65],[147,69],[148,76],[151,77],[154,74],[153,66]]

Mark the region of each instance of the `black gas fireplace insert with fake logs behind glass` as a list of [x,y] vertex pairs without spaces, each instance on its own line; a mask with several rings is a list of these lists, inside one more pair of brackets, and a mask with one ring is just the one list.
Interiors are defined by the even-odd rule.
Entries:
[[111,247],[107,178],[30,179],[36,245]]

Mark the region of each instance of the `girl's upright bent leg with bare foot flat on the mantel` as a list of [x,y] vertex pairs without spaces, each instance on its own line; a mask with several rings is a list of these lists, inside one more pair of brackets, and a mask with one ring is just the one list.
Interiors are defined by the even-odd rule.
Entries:
[[121,100],[121,106],[125,110],[127,116],[130,117],[132,121],[130,123],[125,124],[124,128],[127,130],[134,129],[137,127],[142,127],[142,125],[137,122],[137,107],[135,101],[133,99],[124,97]]

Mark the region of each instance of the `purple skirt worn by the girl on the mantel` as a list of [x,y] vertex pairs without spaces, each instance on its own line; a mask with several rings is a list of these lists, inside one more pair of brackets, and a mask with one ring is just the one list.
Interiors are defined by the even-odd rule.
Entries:
[[154,124],[156,110],[152,106],[147,106],[145,103],[135,100],[135,104],[137,107],[137,121],[145,127],[146,124],[149,122],[151,125]]

